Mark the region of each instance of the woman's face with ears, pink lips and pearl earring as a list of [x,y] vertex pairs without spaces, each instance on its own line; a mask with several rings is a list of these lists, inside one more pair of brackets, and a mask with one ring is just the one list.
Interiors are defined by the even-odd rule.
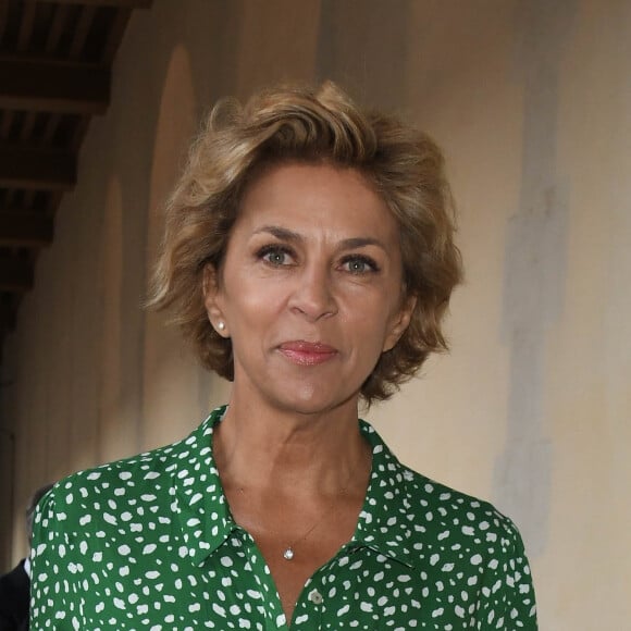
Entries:
[[357,171],[265,171],[246,190],[219,279],[210,268],[205,277],[210,321],[232,338],[233,397],[301,413],[356,406],[409,322],[401,293],[397,222]]

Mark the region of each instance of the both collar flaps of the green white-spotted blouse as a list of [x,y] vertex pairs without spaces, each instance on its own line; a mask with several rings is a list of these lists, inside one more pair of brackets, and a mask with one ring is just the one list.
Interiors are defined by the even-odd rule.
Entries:
[[[227,505],[212,453],[213,428],[226,407],[216,408],[187,438],[172,449],[173,508],[178,517],[184,547],[194,565],[201,565],[235,530],[239,530]],[[410,500],[407,482],[411,473],[366,421],[360,431],[372,448],[372,471],[350,547],[366,546],[412,567],[407,547],[410,537]]]

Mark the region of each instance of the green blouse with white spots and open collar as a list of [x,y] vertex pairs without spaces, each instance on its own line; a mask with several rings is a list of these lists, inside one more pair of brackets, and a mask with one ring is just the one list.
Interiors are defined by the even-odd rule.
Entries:
[[[286,630],[212,456],[188,438],[75,473],[35,520],[30,629]],[[490,504],[400,465],[360,421],[372,473],[356,532],[306,583],[292,630],[536,629],[520,535]]]

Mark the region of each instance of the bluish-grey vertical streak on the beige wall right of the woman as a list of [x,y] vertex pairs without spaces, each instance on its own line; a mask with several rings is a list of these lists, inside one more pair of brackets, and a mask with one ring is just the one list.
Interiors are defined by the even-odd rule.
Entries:
[[553,454],[544,431],[546,332],[559,318],[566,279],[567,191],[556,173],[558,90],[576,1],[536,0],[518,12],[516,72],[524,84],[522,177],[505,262],[504,336],[510,346],[506,447],[495,499],[520,524],[530,556],[545,547]]

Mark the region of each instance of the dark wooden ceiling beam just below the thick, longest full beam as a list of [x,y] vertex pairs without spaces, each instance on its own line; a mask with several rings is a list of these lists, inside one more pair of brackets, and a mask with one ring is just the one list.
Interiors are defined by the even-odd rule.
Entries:
[[0,146],[0,187],[70,190],[76,183],[76,158],[60,149]]

